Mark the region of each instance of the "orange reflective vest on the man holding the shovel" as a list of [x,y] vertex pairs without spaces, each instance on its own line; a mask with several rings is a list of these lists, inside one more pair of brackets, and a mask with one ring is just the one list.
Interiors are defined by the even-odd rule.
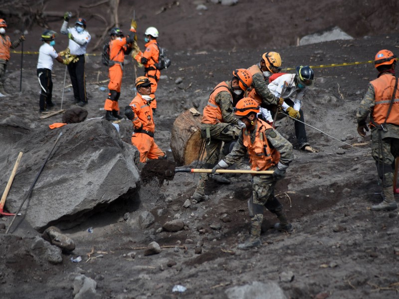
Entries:
[[267,170],[280,160],[280,153],[271,149],[266,139],[265,131],[272,127],[258,119],[255,140],[251,143],[251,136],[246,129],[242,130],[242,142],[248,150],[252,170]]

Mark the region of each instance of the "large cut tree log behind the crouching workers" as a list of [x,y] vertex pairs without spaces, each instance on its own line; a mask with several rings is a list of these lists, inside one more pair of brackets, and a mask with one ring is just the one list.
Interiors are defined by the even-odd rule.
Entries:
[[[180,114],[172,127],[171,149],[178,165],[188,165],[198,158],[201,145],[202,115],[194,108]],[[204,152],[200,159],[206,155]]]

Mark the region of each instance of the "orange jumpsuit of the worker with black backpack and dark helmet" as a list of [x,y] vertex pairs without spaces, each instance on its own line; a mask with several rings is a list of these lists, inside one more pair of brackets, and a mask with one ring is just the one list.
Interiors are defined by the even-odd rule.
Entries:
[[127,44],[126,37],[117,37],[109,43],[109,58],[110,62],[114,64],[108,70],[108,77],[110,79],[108,84],[109,94],[105,100],[104,110],[119,112],[118,99],[121,95],[123,62],[125,60],[125,52],[129,46],[130,44]]

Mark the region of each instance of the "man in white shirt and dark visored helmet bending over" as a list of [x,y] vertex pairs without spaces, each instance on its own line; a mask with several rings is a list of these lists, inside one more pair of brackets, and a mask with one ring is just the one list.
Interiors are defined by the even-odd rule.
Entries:
[[[284,99],[281,109],[290,117],[300,121],[294,121],[295,136],[299,148],[310,152],[316,152],[317,150],[313,149],[308,144],[304,124],[305,120],[303,117],[303,111],[301,110],[305,89],[307,86],[313,84],[314,72],[309,66],[302,65],[296,67],[295,70],[295,74],[281,75],[269,83],[267,87],[276,97]],[[284,93],[281,94],[284,82],[287,82],[287,87],[285,88]]]

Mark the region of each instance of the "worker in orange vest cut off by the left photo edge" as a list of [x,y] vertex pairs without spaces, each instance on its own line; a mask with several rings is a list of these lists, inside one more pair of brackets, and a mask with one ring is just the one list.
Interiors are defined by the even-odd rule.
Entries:
[[25,40],[25,36],[21,35],[11,42],[9,36],[5,34],[5,28],[7,28],[7,23],[4,19],[0,19],[0,97],[8,96],[4,90],[4,75],[10,58],[9,49],[15,49],[22,40]]

